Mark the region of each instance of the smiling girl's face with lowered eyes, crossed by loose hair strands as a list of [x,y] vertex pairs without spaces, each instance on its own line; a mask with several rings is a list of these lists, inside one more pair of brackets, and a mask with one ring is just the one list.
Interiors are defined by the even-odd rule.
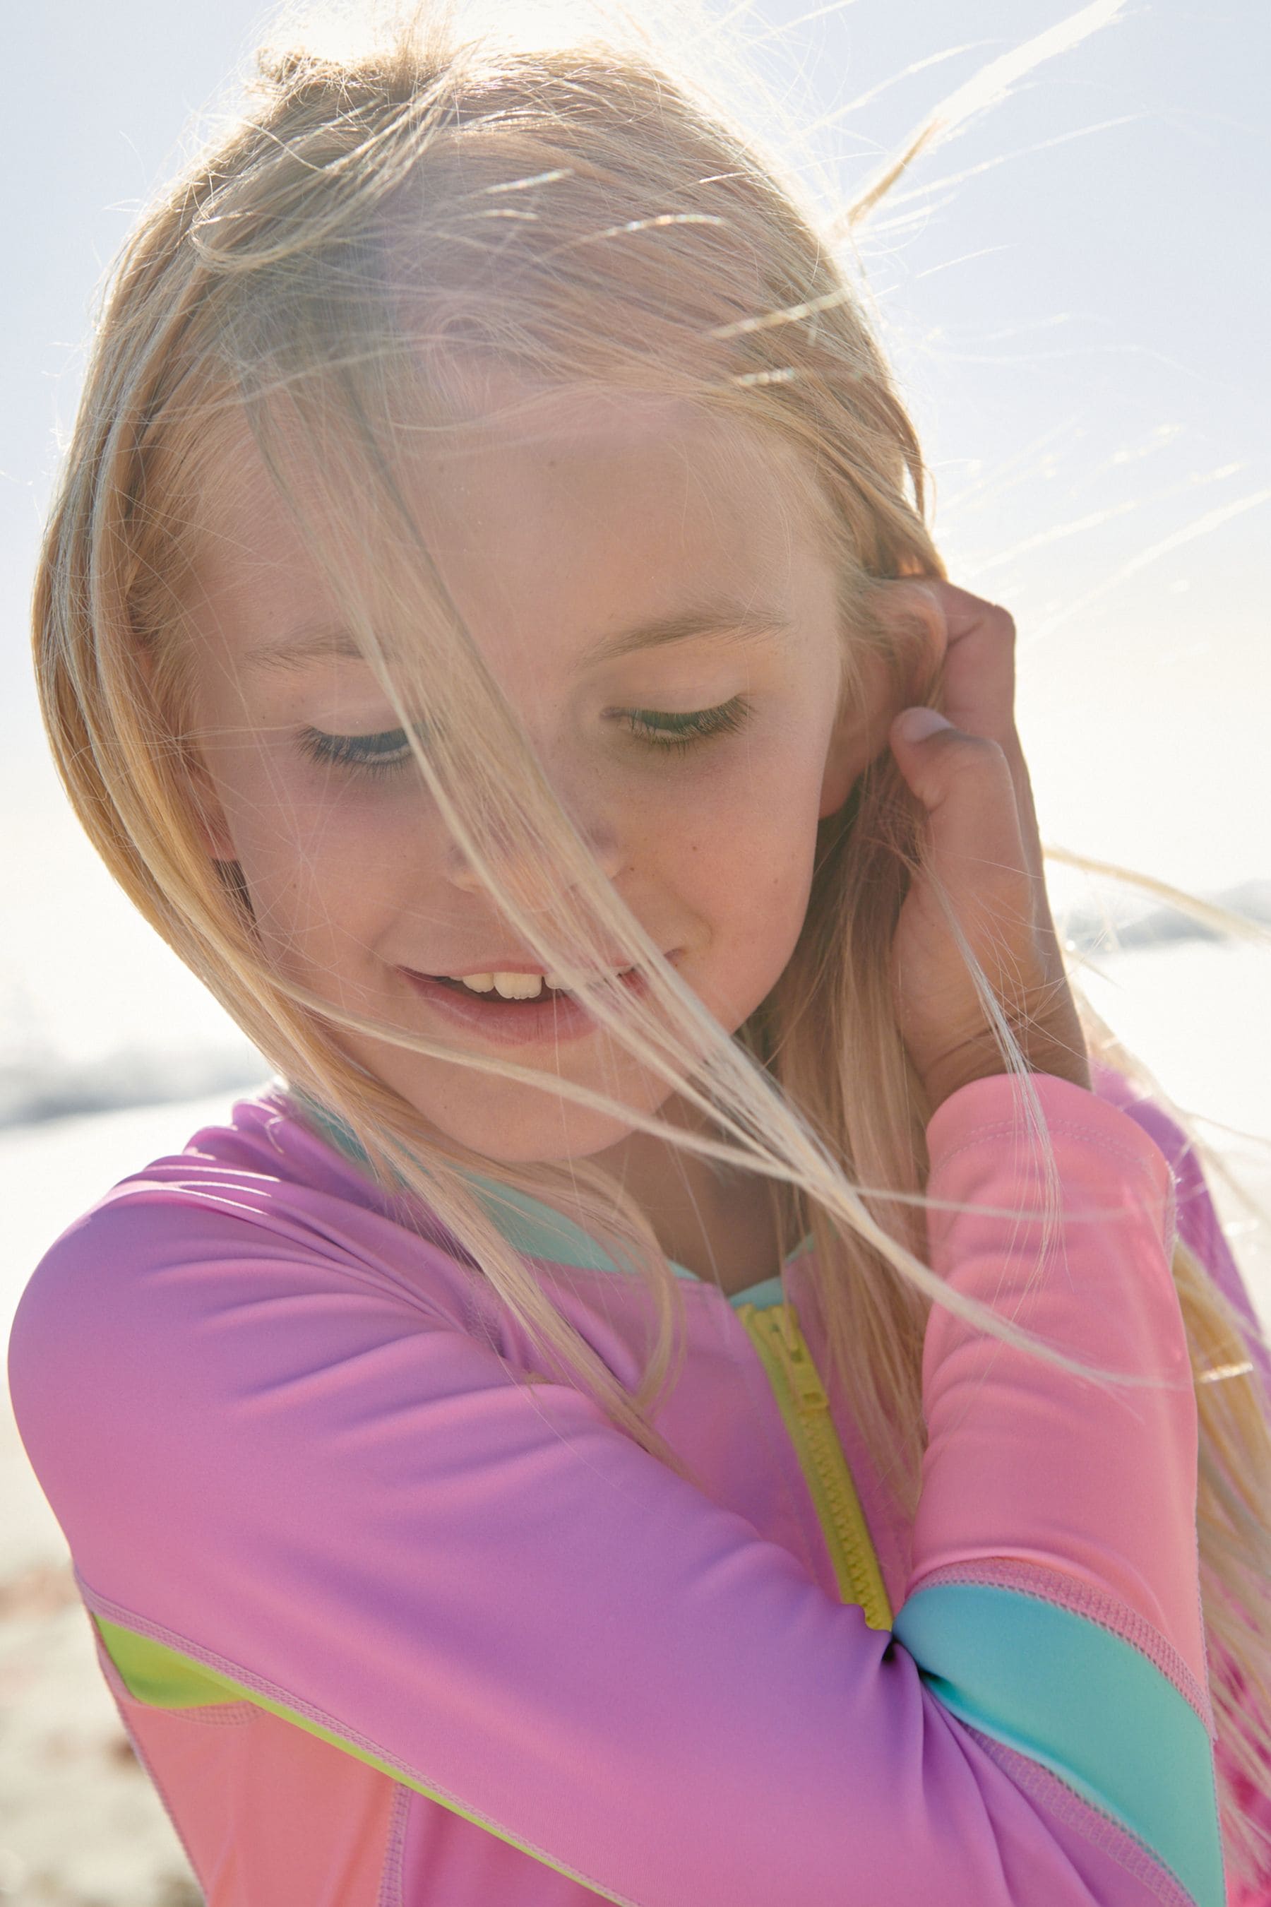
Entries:
[[[240,864],[267,957],[358,1015],[663,1106],[665,1083],[585,1015],[562,1028],[551,1007],[419,978],[537,963],[450,839],[255,454],[234,469],[187,599],[191,690],[210,845]],[[680,402],[556,395],[528,423],[448,441],[412,503],[558,799],[734,1032],[798,940],[817,820],[892,713],[878,660],[838,707],[835,574],[789,454]],[[551,908],[551,875],[541,891]],[[484,1018],[457,1018],[454,999]],[[595,1154],[629,1133],[535,1087],[339,1037],[492,1159]]]

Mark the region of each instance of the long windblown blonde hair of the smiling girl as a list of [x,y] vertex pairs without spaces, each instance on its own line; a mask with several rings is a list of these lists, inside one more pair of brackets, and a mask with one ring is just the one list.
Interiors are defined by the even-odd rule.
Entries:
[[[835,1379],[913,1508],[930,1304],[1033,1344],[949,1293],[922,1257],[932,1108],[888,982],[896,919],[920,866],[913,795],[886,751],[865,769],[821,828],[793,959],[728,1037],[595,868],[448,601],[400,486],[412,454],[404,418],[415,444],[429,429],[463,427],[448,385],[457,353],[514,368],[528,389],[682,397],[783,446],[840,578],[844,692],[865,652],[907,681],[913,631],[880,603],[898,580],[943,570],[924,523],[918,444],[859,294],[789,181],[640,50],[516,50],[412,21],[339,59],[265,57],[255,93],[252,113],[147,214],[118,265],[48,528],[38,677],[80,820],[137,908],[278,1072],[343,1119],[379,1179],[414,1194],[471,1253],[545,1367],[680,1474],[652,1417],[684,1356],[682,1297],[642,1213],[585,1159],[499,1167],[514,1188],[572,1198],[614,1257],[648,1280],[656,1329],[629,1392],[474,1196],[467,1173],[488,1161],[427,1129],[351,1058],[339,1030],[537,1081],[766,1175],[785,1243],[812,1234]],[[263,957],[242,881],[212,860],[200,828],[181,614],[194,505],[229,481],[225,446],[244,420],[499,910],[566,980],[604,965],[615,944],[648,967],[648,1005],[610,986],[595,1011],[709,1131],[360,1020]],[[290,473],[318,442],[332,475],[301,509]],[[358,549],[375,553],[375,612],[349,582],[345,559]],[[408,648],[385,633],[393,627],[412,629]],[[938,696],[930,679],[918,700]],[[423,702],[440,717],[427,753],[408,713]],[[562,873],[551,919],[534,906],[530,866]],[[1023,1055],[974,974],[1044,1146]],[[1092,1056],[1147,1085],[1077,997]],[[1261,1787],[1271,1753],[1271,1438],[1242,1318],[1183,1243],[1174,1278],[1200,1421],[1223,1833],[1231,1873],[1252,1880],[1263,1856],[1239,1777]]]

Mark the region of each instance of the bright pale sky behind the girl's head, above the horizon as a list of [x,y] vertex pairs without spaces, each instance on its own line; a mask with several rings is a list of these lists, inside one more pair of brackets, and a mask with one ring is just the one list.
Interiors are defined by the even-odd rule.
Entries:
[[[859,191],[934,105],[966,105],[985,63],[1075,11],[757,0],[749,21],[787,111],[825,120],[817,149]],[[1115,17],[918,160],[863,254],[953,576],[1019,624],[1042,835],[1214,892],[1271,875],[1271,8],[1080,11]],[[269,17],[46,0],[6,25],[0,1009],[82,994],[91,936],[97,1001],[131,973],[133,1011],[204,1013],[63,812],[25,622],[93,286]]]

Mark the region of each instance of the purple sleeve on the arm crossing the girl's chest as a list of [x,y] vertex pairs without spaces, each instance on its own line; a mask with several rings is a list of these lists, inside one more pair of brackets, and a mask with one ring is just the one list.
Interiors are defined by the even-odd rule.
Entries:
[[1092,1884],[1088,1823],[789,1550],[514,1386],[452,1259],[265,1163],[120,1186],[23,1297],[13,1402],[93,1602],[610,1899],[1159,1897]]

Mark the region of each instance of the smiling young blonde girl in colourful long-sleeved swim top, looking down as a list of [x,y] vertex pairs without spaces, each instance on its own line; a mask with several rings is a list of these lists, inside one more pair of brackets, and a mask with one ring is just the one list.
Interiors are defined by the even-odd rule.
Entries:
[[208,1901],[1271,1901],[1248,1301],[747,143],[591,44],[276,59],[122,261],[36,620],[278,1074],[10,1352]]

